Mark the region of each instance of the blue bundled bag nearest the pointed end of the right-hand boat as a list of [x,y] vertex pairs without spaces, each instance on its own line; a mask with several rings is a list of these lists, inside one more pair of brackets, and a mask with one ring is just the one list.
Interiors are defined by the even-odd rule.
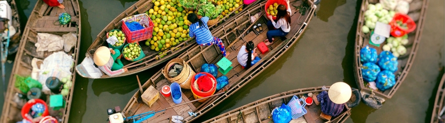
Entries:
[[392,88],[396,84],[396,76],[389,70],[383,70],[379,73],[376,80],[376,87],[380,91]]

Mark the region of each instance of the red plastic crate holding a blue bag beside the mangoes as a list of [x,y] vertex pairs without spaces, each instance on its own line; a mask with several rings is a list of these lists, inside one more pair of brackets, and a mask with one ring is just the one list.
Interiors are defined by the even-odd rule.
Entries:
[[[121,21],[122,21],[122,31],[124,31],[128,43],[134,43],[152,37],[153,22],[151,21],[150,17],[148,17],[147,14],[143,13],[143,14],[133,15],[130,17],[126,17]],[[125,24],[125,22],[127,21],[138,22],[145,28],[138,31],[130,31],[130,29],[128,29],[127,25]]]

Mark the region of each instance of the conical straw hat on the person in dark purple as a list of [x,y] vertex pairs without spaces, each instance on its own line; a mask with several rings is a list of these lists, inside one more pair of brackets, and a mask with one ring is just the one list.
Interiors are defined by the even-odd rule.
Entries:
[[328,96],[332,102],[336,104],[343,104],[351,98],[351,87],[344,82],[337,82],[332,84],[329,88]]

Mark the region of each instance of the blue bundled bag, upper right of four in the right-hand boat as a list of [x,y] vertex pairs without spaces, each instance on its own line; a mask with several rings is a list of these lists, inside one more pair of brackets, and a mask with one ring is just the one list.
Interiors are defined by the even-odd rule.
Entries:
[[379,61],[377,62],[377,65],[379,65],[382,70],[389,70],[394,73],[397,71],[399,62],[397,62],[397,57],[394,57],[393,53],[389,51],[383,51],[379,55]]

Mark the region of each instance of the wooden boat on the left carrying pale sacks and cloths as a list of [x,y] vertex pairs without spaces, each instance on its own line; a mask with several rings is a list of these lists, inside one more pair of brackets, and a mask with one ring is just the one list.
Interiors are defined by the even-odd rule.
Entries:
[[[9,85],[4,99],[0,123],[16,123],[23,119],[20,115],[22,104],[15,101],[17,98],[16,93],[22,92],[14,87],[14,82],[16,81],[16,77],[14,76],[31,76],[33,69],[31,60],[33,58],[44,60],[52,53],[59,52],[37,52],[35,43],[37,43],[38,32],[51,33],[60,36],[69,32],[77,34],[77,43],[68,53],[66,53],[68,55],[72,55],[74,65],[77,64],[81,42],[80,34],[82,30],[79,2],[78,0],[63,0],[62,4],[65,6],[65,9],[50,7],[43,0],[37,0],[34,10],[31,12],[29,20],[26,24],[25,30],[23,31],[23,36],[21,37],[19,50],[17,51],[17,56],[15,57],[14,66],[11,71],[11,77],[9,78]],[[67,25],[57,25],[58,22],[54,24],[54,22],[58,21],[58,15],[63,12],[71,15],[71,22]],[[53,111],[52,108],[49,109],[49,115],[57,119],[61,119],[61,121],[59,121],[61,123],[68,123],[71,101],[73,98],[72,95],[74,91],[74,81],[76,80],[76,72],[74,71],[74,68],[72,68],[70,71],[72,73],[71,80],[73,81],[73,85],[70,88],[69,94],[63,97],[66,101],[65,107],[57,111]],[[49,99],[49,95],[46,95],[46,99]],[[47,104],[49,104],[48,102],[49,100],[46,100]]]

